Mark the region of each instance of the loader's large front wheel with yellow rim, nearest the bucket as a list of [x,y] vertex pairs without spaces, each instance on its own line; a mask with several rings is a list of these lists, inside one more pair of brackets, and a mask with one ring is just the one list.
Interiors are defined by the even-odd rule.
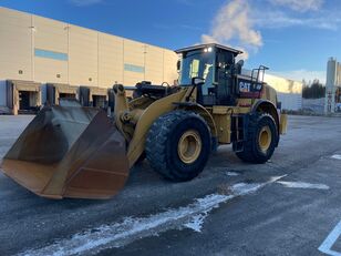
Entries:
[[189,111],[158,117],[146,140],[146,157],[165,178],[186,182],[203,172],[210,153],[210,131],[205,120]]

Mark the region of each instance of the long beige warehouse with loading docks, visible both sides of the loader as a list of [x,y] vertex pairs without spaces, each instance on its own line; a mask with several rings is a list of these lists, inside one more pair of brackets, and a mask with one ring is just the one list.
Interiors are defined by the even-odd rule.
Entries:
[[[0,113],[37,111],[63,98],[104,106],[115,83],[178,79],[172,50],[1,7],[0,40]],[[265,81],[283,109],[301,109],[300,83],[269,74]]]

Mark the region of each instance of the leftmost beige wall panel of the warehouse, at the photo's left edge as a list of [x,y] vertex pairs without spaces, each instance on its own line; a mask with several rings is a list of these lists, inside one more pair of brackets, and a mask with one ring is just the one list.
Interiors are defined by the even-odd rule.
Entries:
[[0,8],[0,79],[32,80],[32,17]]

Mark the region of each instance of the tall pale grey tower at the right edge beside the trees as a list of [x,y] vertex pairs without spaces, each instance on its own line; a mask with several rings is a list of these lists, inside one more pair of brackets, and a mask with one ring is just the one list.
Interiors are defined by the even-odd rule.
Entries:
[[341,63],[330,58],[327,63],[324,113],[341,111]]

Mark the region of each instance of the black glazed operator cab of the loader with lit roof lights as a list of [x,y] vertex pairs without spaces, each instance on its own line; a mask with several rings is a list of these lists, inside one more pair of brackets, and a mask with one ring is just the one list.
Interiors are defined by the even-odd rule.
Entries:
[[[203,105],[235,105],[238,98],[242,98],[242,90],[247,88],[248,98],[254,98],[257,91],[260,95],[262,81],[241,75],[244,62],[236,63],[236,57],[242,53],[239,50],[216,43],[200,44],[175,51],[182,55],[178,64],[179,85],[193,85],[193,79],[199,78],[204,82],[197,86],[197,101]],[[256,83],[255,83],[256,82]],[[238,85],[237,85],[238,84]],[[241,92],[240,92],[240,85]],[[245,86],[246,85],[246,86]],[[257,90],[256,90],[257,89]],[[255,94],[256,95],[256,94]]]

